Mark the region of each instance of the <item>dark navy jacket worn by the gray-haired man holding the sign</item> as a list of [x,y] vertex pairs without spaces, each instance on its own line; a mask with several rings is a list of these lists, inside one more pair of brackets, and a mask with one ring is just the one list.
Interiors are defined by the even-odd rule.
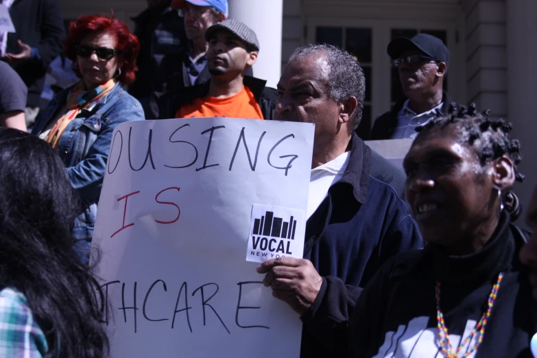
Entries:
[[305,259],[323,276],[321,290],[304,322],[301,357],[344,357],[353,307],[379,267],[398,252],[422,248],[407,204],[377,178],[401,183],[398,169],[353,133],[343,177],[306,225]]

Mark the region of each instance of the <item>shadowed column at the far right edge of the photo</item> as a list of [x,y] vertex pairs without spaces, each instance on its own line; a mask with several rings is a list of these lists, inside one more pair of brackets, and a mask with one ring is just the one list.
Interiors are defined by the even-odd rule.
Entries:
[[[525,174],[516,193],[527,208],[530,195],[537,183],[537,33],[536,0],[508,0],[507,56],[508,56],[508,118],[513,123],[512,135],[522,142],[523,161],[519,167]],[[527,212],[526,212],[527,213]],[[522,224],[523,220],[520,220]]]

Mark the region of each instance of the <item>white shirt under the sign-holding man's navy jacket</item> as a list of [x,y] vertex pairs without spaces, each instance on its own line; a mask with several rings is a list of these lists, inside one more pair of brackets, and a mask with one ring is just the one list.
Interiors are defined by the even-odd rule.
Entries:
[[307,217],[315,213],[315,210],[322,203],[330,187],[342,178],[347,169],[350,152],[340,154],[337,158],[330,160],[316,168],[311,169],[309,178],[309,195]]

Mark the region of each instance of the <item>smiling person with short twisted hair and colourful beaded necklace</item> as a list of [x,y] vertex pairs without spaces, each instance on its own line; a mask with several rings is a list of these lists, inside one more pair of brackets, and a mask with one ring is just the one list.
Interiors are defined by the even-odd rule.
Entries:
[[350,357],[532,357],[535,303],[505,207],[520,145],[475,106],[433,119],[405,157],[405,194],[427,245],[387,262],[350,321]]

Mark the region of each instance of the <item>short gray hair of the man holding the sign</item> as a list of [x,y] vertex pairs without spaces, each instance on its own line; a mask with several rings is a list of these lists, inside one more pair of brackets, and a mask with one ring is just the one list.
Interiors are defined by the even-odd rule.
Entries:
[[302,60],[313,54],[325,52],[329,66],[329,95],[337,103],[355,97],[358,106],[350,117],[353,128],[358,128],[363,114],[363,100],[366,97],[366,77],[355,56],[337,46],[327,44],[300,46],[289,58],[289,62]]

